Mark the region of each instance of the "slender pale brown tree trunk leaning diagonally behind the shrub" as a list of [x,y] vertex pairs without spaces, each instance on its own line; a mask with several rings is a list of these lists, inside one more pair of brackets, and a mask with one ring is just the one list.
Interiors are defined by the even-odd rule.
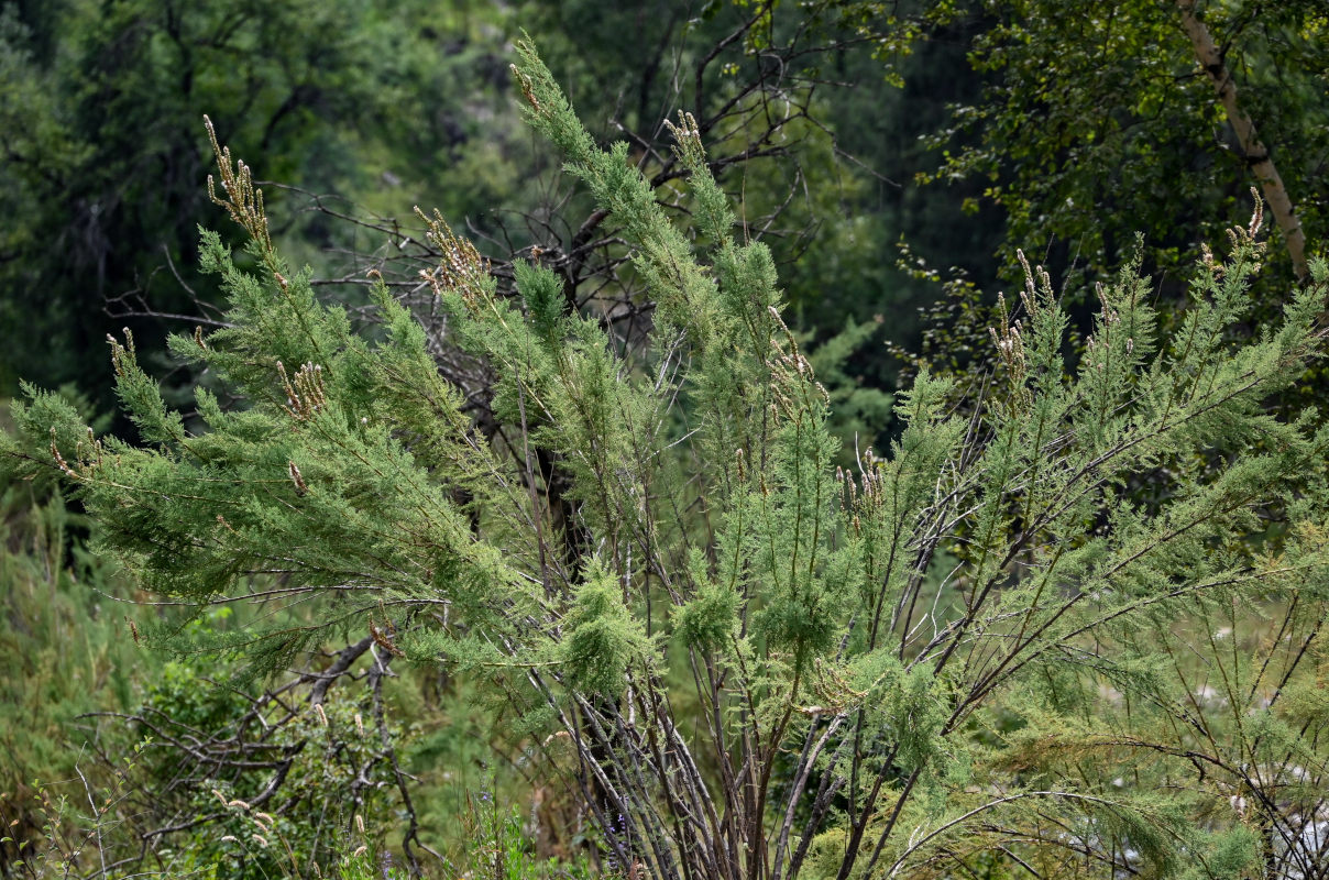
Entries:
[[1305,279],[1308,271],[1306,237],[1301,231],[1301,221],[1297,218],[1296,207],[1293,207],[1288,190],[1282,185],[1282,178],[1278,177],[1278,169],[1269,158],[1269,148],[1260,141],[1255,122],[1237,104],[1236,82],[1232,81],[1232,74],[1228,72],[1223,53],[1215,45],[1209,29],[1195,16],[1195,0],[1176,0],[1176,8],[1181,11],[1181,27],[1191,37],[1195,57],[1200,60],[1200,66],[1213,82],[1213,90],[1223,101],[1223,108],[1228,112],[1228,122],[1232,124],[1237,141],[1241,144],[1247,165],[1251,166],[1251,173],[1255,174],[1264,193],[1264,201],[1269,203],[1269,210],[1273,211],[1273,218],[1277,221],[1278,229],[1282,230],[1282,238],[1288,243],[1288,254],[1292,257],[1292,269],[1297,273],[1298,279]]

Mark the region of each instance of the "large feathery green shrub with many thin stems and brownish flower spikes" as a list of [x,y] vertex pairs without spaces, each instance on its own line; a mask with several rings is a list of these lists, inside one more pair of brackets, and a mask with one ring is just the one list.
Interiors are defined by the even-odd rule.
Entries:
[[114,340],[138,440],[31,391],[8,467],[64,472],[155,592],[279,576],[254,598],[308,622],[209,646],[260,671],[359,631],[492,682],[630,876],[1321,876],[1329,428],[1261,404],[1318,356],[1325,266],[1235,342],[1257,211],[1196,267],[1177,334],[1128,266],[1070,363],[1026,265],[982,393],[952,411],[920,375],[885,455],[837,469],[771,255],[691,117],[684,231],[518,52],[530,124],[635,249],[647,346],[540,265],[500,296],[435,217],[425,280],[493,376],[481,429],[387,287],[373,338],[314,296],[219,150],[254,269],[205,233],[229,326],[171,350],[241,404],[199,389],[187,427]]

